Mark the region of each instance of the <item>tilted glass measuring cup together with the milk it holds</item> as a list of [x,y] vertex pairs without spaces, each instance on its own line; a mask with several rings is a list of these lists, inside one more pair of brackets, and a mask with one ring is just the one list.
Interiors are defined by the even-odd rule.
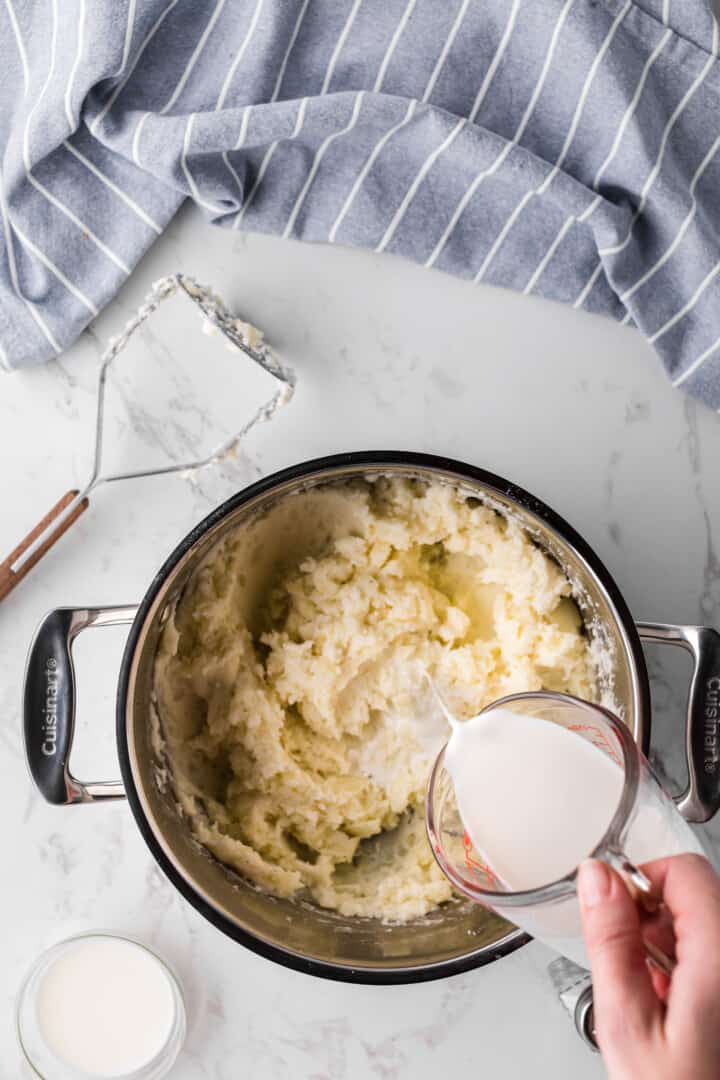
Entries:
[[[638,866],[702,852],[627,728],[565,694],[515,694],[454,720],[425,812],[435,859],[460,893],[584,967],[584,859],[604,860],[652,909],[657,901]],[[670,969],[652,946],[648,953]]]

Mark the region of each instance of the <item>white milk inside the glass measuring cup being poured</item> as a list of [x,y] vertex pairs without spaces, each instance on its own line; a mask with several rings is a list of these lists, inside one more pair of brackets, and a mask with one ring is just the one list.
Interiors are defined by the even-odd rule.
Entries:
[[[445,754],[460,816],[477,852],[508,891],[549,885],[600,843],[624,785],[620,764],[559,724],[497,708],[452,723]],[[624,842],[642,863],[702,852],[669,799],[641,794]],[[495,910],[585,967],[575,896]]]

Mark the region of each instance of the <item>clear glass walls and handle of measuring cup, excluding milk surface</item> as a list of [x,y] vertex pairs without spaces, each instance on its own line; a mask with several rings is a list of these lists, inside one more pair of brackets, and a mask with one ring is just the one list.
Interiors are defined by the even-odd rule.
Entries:
[[[609,811],[604,834],[583,858],[602,859],[616,869],[638,903],[654,910],[657,897],[639,864],[663,855],[702,853],[702,847],[673,799],[661,787],[630,732],[608,710],[568,694],[519,693],[494,702],[495,710],[558,724],[589,741],[622,770],[622,788]],[[512,724],[508,715],[503,723]],[[582,935],[576,895],[578,866],[538,888],[515,891],[505,886],[487,856],[475,849],[458,807],[452,778],[445,764],[447,746],[438,755],[425,800],[425,820],[433,854],[454,888],[503,918],[527,930],[563,956],[589,967]],[[507,778],[512,791],[513,778]],[[592,792],[588,792],[588,799]],[[582,807],[569,807],[569,814]],[[552,838],[548,838],[552,842]],[[663,970],[671,962],[652,945],[649,957]]]

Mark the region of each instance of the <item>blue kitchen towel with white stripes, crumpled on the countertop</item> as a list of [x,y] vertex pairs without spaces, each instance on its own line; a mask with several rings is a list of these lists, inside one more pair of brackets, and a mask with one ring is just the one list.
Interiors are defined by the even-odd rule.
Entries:
[[720,408],[709,0],[3,0],[0,363],[188,197],[636,324]]

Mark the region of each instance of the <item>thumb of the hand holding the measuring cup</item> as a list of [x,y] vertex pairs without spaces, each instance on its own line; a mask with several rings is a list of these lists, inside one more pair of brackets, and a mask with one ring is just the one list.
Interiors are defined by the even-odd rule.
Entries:
[[661,1015],[640,932],[640,916],[622,880],[606,863],[580,868],[578,895],[593,969],[598,1041],[606,1052],[649,1036]]

